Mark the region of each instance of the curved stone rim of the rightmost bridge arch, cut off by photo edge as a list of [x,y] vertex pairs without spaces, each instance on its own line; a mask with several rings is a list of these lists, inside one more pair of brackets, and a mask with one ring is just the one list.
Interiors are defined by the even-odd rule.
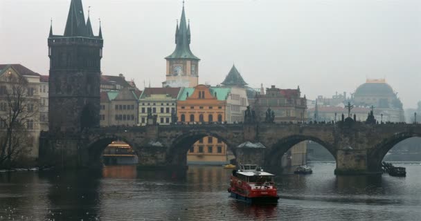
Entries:
[[409,139],[411,137],[421,137],[421,133],[413,132],[404,132],[404,133],[395,133],[390,137],[382,140],[377,145],[374,146],[370,151],[368,151],[368,171],[381,171],[382,170],[382,161],[386,156],[386,153],[393,148],[396,144]]

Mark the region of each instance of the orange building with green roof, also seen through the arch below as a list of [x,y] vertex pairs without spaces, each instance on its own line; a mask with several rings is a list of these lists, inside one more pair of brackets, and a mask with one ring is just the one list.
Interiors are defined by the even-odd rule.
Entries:
[[[183,124],[225,122],[226,98],[229,88],[213,88],[199,84],[183,88],[177,101],[178,121]],[[188,164],[226,164],[226,144],[216,137],[203,137],[190,147]]]

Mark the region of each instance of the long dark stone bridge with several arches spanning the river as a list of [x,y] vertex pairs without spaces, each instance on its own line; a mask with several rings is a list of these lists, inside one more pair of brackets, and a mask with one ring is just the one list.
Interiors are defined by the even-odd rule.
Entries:
[[[305,140],[335,157],[336,174],[379,173],[384,155],[398,142],[420,137],[420,124],[195,124],[92,128],[83,133],[42,133],[41,165],[98,166],[112,141],[130,144],[139,166],[185,166],[188,149],[204,136],[224,141],[238,162],[278,166],[289,148]],[[260,142],[265,148],[238,148]]]

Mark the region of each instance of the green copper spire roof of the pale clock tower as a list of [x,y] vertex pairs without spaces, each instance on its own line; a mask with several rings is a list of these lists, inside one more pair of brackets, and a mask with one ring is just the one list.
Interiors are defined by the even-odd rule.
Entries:
[[186,13],[181,12],[180,26],[175,30],[175,50],[172,54],[165,59],[195,59],[200,60],[198,57],[193,55],[190,50],[190,23],[186,23]]

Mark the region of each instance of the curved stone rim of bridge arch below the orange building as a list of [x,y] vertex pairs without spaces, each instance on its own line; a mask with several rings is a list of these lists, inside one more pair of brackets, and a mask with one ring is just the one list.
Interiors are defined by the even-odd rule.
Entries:
[[233,148],[233,142],[224,136],[226,134],[224,131],[206,131],[206,130],[199,130],[199,131],[190,131],[188,133],[183,133],[176,137],[172,142],[171,146],[168,148],[167,151],[167,162],[168,164],[186,164],[187,162],[187,153],[190,149],[190,146],[195,144],[198,140],[203,137],[215,137],[217,139],[222,140],[227,146],[227,149],[233,152],[233,155],[236,156],[235,148]]

